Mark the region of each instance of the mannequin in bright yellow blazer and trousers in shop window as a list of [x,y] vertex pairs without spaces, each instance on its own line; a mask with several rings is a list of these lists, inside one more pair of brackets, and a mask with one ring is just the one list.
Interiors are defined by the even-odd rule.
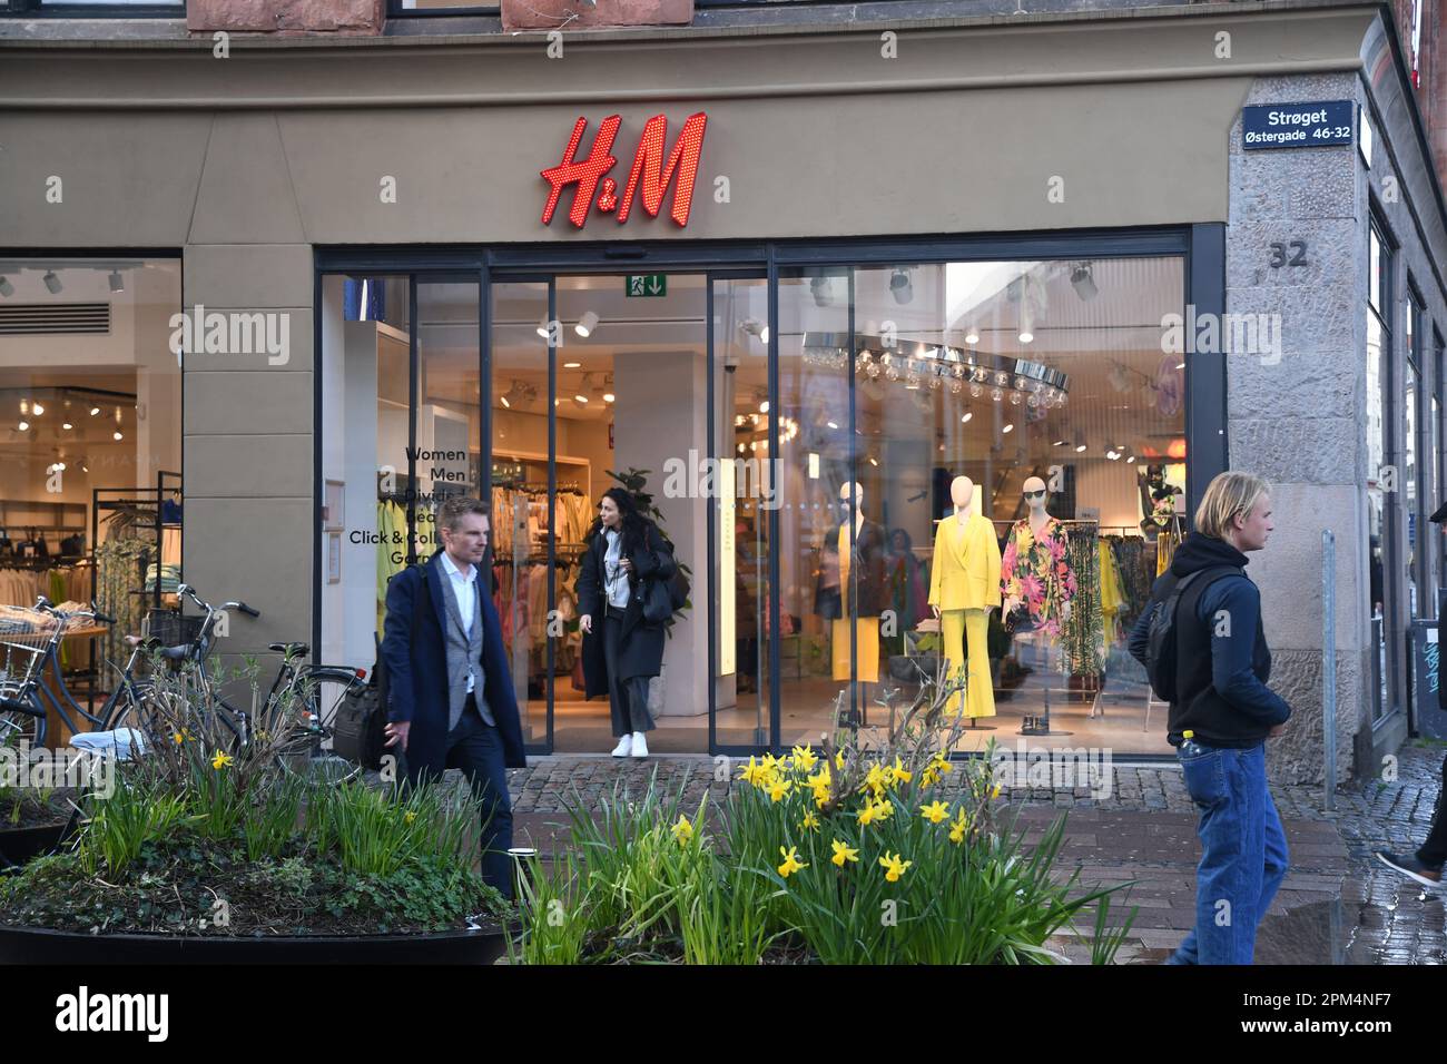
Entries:
[[964,699],[955,693],[945,712],[994,717],[985,640],[988,609],[1000,605],[1000,543],[994,525],[980,514],[971,514],[964,527],[955,515],[943,518],[935,530],[930,569],[929,604],[939,608],[949,675],[965,669],[968,677]]

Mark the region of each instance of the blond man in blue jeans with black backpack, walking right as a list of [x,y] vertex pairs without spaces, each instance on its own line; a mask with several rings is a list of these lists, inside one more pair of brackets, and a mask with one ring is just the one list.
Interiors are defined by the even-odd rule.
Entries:
[[1291,706],[1266,686],[1260,592],[1246,575],[1246,554],[1262,550],[1272,528],[1263,479],[1213,479],[1195,530],[1130,633],[1130,653],[1171,704],[1168,738],[1201,814],[1195,928],[1168,964],[1250,964],[1256,925],[1286,874],[1265,743],[1282,734]]

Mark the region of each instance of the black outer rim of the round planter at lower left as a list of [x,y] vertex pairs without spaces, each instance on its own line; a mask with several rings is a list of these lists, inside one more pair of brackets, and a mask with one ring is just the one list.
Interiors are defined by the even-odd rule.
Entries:
[[0,964],[492,964],[505,931],[223,938],[87,935],[0,924]]

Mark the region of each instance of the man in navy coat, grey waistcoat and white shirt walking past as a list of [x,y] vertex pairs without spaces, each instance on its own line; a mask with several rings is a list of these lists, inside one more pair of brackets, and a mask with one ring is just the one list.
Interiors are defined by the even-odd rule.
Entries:
[[506,770],[527,760],[492,580],[479,570],[489,510],[480,499],[449,498],[437,514],[443,549],[388,583],[386,746],[401,748],[408,785],[462,769],[482,805],[483,879],[511,898]]

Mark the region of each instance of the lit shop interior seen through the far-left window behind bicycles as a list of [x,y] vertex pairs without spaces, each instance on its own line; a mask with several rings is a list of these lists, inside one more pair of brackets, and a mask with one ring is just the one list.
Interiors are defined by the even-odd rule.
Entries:
[[82,698],[109,689],[124,634],[177,605],[179,308],[174,259],[0,261],[0,683],[29,663],[39,595],[117,618],[62,644]]

